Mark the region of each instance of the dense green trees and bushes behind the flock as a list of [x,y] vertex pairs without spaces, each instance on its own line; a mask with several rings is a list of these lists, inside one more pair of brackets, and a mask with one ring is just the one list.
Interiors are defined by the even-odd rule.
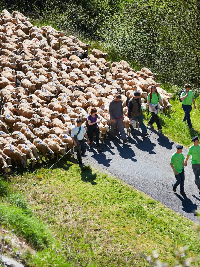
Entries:
[[132,65],[147,66],[161,80],[200,78],[200,3],[197,0],[0,0],[0,7],[42,18],[83,38],[102,41]]

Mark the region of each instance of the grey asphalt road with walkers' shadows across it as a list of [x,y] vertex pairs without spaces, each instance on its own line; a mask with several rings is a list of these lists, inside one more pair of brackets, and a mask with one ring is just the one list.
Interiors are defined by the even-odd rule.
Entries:
[[[87,148],[86,158],[170,209],[197,222],[195,210],[200,209],[200,195],[194,183],[190,160],[185,169],[187,196],[183,197],[180,194],[180,186],[176,193],[172,190],[175,177],[170,167],[170,158],[176,151],[177,143],[158,135],[155,130],[148,129],[147,132],[149,138],[143,139],[141,132],[135,130],[136,134],[131,135],[127,144],[122,143],[119,135],[114,141],[105,139],[105,144],[101,144],[102,152],[99,153],[93,142],[92,148]],[[186,158],[186,148],[183,149],[183,154]]]

